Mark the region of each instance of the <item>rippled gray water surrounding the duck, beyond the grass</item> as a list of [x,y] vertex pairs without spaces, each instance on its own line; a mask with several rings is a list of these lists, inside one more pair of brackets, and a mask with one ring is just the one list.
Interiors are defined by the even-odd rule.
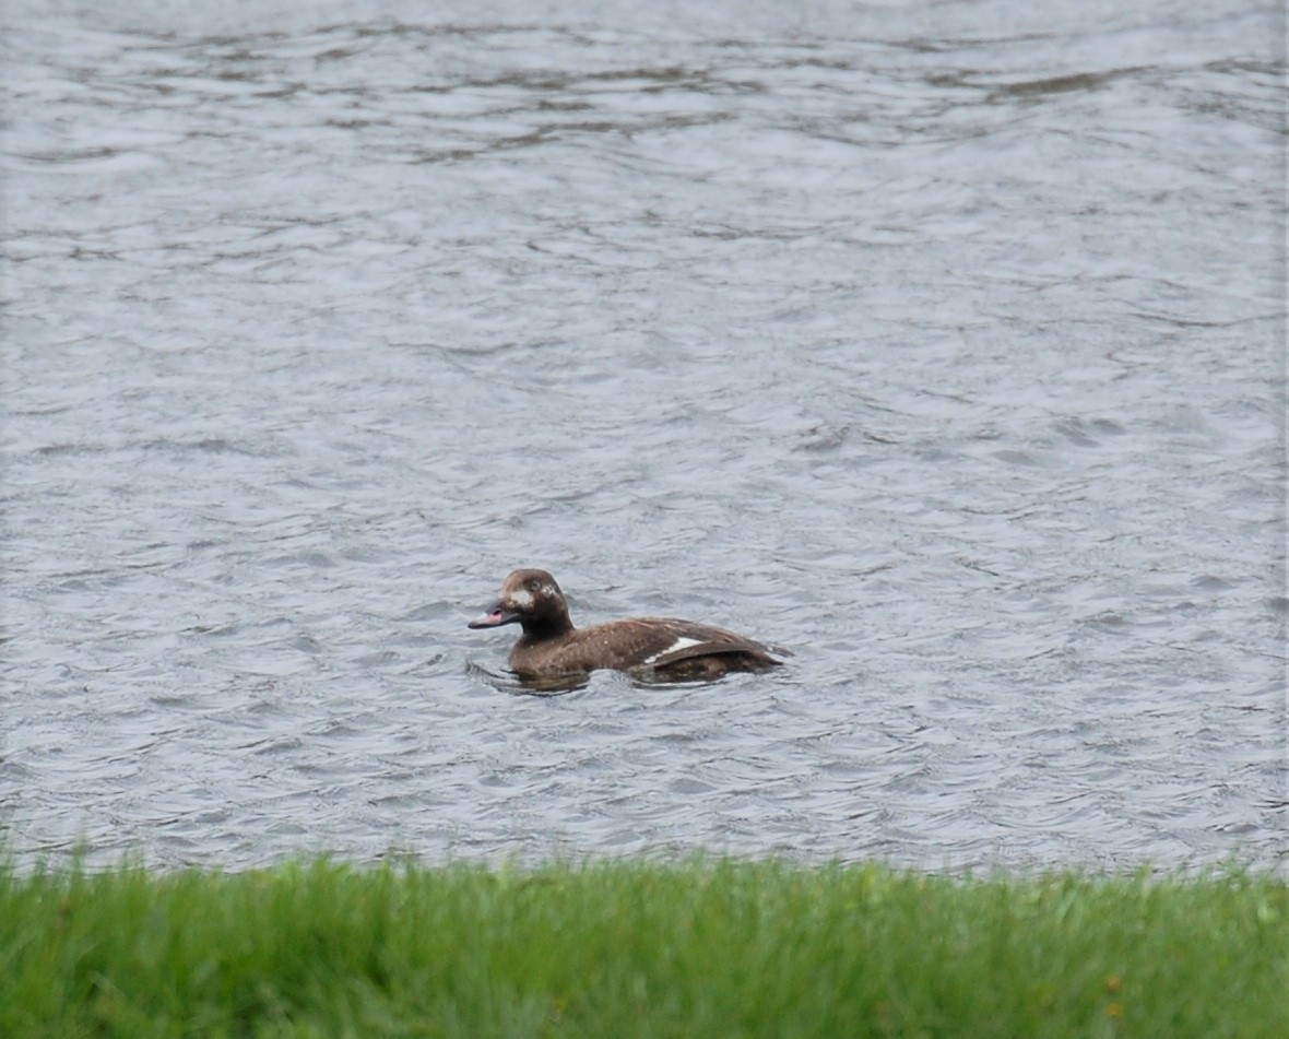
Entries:
[[[1279,4],[107,6],[4,13],[12,856],[1283,864]],[[797,656],[517,695],[516,566]]]

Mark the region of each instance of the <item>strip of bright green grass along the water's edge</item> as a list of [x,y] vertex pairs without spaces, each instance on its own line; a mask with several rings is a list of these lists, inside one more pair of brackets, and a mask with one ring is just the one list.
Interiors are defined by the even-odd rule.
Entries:
[[1285,1036],[1267,877],[692,861],[19,874],[0,1036]]

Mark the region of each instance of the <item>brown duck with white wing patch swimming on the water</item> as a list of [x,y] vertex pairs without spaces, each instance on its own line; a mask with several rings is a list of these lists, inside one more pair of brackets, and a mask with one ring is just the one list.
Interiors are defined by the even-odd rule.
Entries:
[[677,617],[629,617],[575,628],[563,592],[545,570],[516,570],[496,602],[469,628],[523,629],[509,654],[521,678],[550,679],[610,669],[657,679],[721,678],[780,666],[788,650],[713,624]]

